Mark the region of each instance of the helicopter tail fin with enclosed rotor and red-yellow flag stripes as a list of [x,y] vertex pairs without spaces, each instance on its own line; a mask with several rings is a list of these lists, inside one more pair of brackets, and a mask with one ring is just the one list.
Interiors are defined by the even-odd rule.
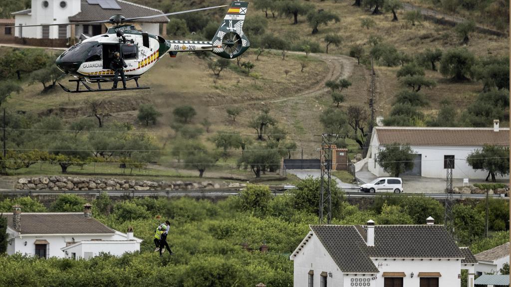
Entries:
[[226,59],[234,59],[243,54],[250,42],[243,33],[243,23],[247,13],[248,2],[233,1],[215,37],[213,53]]

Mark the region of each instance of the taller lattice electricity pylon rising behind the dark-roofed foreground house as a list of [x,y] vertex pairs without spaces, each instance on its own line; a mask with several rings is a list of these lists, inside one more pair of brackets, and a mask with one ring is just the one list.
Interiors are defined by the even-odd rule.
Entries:
[[336,134],[321,135],[321,187],[319,191],[319,224],[332,221],[332,144],[337,140]]

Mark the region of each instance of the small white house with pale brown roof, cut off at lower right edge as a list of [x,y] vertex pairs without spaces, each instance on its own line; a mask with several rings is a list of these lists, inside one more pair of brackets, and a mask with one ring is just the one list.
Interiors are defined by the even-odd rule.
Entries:
[[477,253],[475,257],[479,261],[475,269],[476,275],[483,275],[484,273],[498,275],[502,266],[505,263],[509,264],[509,242]]

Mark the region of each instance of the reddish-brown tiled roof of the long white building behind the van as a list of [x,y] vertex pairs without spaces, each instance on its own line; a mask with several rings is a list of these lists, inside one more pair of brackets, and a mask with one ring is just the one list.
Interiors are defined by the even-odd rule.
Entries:
[[509,146],[509,129],[377,127],[380,145],[398,142],[410,146]]

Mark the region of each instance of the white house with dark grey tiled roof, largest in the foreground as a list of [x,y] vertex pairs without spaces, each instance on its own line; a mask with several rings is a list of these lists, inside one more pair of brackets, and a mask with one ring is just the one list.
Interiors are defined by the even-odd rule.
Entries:
[[477,260],[444,226],[311,225],[291,254],[294,287],[453,287]]

